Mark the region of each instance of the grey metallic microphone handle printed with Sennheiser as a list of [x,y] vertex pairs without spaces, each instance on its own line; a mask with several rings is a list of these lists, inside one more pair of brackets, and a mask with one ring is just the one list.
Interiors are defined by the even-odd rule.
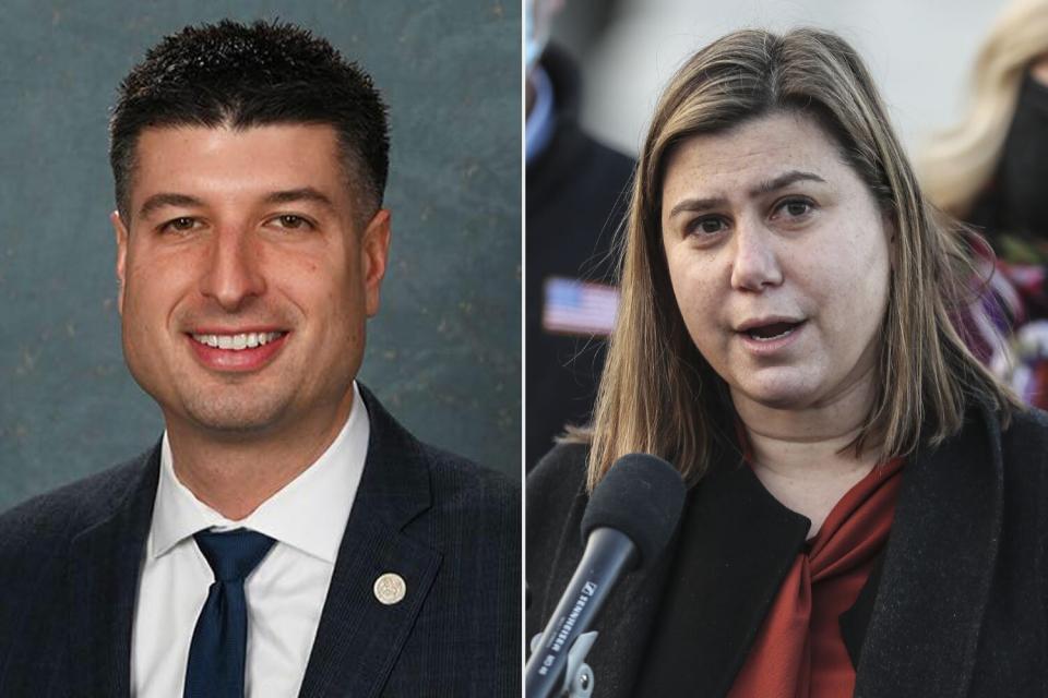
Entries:
[[527,698],[557,698],[564,687],[568,652],[596,619],[619,578],[633,566],[636,546],[612,528],[590,533],[586,550],[524,669]]

